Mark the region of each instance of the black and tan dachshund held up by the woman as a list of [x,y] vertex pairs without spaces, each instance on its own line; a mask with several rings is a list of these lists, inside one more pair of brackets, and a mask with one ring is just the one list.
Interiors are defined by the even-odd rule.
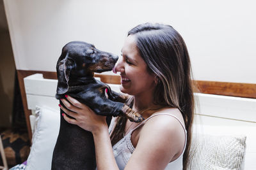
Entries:
[[[102,52],[83,41],[72,41],[65,45],[57,62],[58,87],[56,98],[65,95],[86,104],[98,115],[124,116],[133,122],[141,122],[143,117],[124,103],[127,96],[111,91],[108,85],[93,78],[93,73],[111,71],[118,56]],[[105,90],[108,89],[108,97]],[[60,100],[61,103],[61,100]],[[62,106],[63,103],[61,103]],[[63,113],[63,111],[61,111]],[[68,124],[63,117],[60,132],[52,156],[52,169],[95,169],[95,147],[91,132],[77,125]]]

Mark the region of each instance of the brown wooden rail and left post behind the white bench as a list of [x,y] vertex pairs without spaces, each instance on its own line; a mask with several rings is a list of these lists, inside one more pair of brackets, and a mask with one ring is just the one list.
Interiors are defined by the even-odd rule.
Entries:
[[[24,78],[36,73],[43,74],[44,78],[47,79],[57,79],[56,72],[17,70],[19,87],[22,96],[22,104],[24,106],[24,113],[26,116],[26,124],[28,127],[30,140],[32,138],[31,125],[29,122],[29,115],[31,115],[31,110],[28,110],[26,92],[24,88]],[[118,75],[95,74],[95,76],[100,77],[100,80],[104,83],[120,84],[120,76]],[[217,94],[221,96],[246,97],[256,99],[256,84],[218,81],[194,81],[194,83],[195,86],[197,86],[198,92],[202,94]]]

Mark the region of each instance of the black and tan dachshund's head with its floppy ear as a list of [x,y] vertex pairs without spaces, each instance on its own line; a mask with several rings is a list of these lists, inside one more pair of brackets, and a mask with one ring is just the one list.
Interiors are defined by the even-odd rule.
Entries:
[[83,41],[72,41],[63,46],[57,62],[58,94],[65,94],[68,82],[77,78],[93,76],[93,73],[111,71],[118,60],[117,55],[102,52],[94,45]]

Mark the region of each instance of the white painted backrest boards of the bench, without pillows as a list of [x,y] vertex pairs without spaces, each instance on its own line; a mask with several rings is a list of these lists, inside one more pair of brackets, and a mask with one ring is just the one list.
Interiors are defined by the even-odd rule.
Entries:
[[[33,74],[24,78],[24,85],[28,109],[32,111],[30,120],[33,131],[36,106],[59,109],[59,102],[54,97],[57,80],[45,79],[43,74]],[[110,86],[112,90],[120,92],[119,85]],[[195,125],[216,127],[216,133],[220,134],[245,134],[247,139],[244,169],[256,169],[256,132],[253,131],[256,130],[256,99],[196,93],[195,101]],[[200,131],[205,129],[207,128]]]

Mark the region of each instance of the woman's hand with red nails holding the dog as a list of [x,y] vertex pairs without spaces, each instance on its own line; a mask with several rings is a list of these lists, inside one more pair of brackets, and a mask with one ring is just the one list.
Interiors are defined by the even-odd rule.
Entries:
[[61,110],[63,110],[67,115],[74,118],[69,118],[65,113],[63,113],[63,118],[70,124],[78,125],[86,131],[92,133],[100,132],[102,128],[107,128],[106,117],[96,115],[93,110],[83,103],[80,103],[76,99],[66,96],[66,99],[61,99],[62,103],[66,106],[65,109],[61,104],[59,105]]

